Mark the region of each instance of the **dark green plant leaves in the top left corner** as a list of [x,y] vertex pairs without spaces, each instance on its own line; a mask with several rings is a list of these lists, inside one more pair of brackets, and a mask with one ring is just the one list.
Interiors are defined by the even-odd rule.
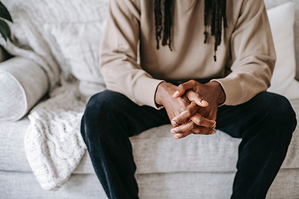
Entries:
[[8,24],[5,22],[5,20],[11,21],[11,16],[7,10],[7,8],[3,5],[3,3],[0,1],[0,33],[2,37],[7,40],[7,38],[11,41],[11,32]]

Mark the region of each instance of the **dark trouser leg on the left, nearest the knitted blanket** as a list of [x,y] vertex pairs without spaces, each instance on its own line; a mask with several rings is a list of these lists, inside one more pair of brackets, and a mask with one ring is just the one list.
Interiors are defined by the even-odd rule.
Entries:
[[89,100],[81,134],[109,199],[138,199],[129,137],[166,123],[170,121],[165,109],[139,106],[116,92],[105,91]]

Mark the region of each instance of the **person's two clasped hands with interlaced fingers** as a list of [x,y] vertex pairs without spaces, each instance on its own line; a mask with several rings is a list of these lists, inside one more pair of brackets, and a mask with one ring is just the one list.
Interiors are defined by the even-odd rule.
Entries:
[[200,84],[194,80],[180,84],[159,84],[155,102],[165,107],[175,139],[193,134],[215,134],[218,105],[225,93],[218,82]]

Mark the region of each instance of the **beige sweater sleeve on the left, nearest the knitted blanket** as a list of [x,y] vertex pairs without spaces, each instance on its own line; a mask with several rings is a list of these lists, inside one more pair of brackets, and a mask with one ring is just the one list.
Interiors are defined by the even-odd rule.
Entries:
[[107,89],[139,105],[156,106],[161,80],[153,79],[137,63],[140,36],[139,0],[110,0],[109,16],[100,50],[100,69]]

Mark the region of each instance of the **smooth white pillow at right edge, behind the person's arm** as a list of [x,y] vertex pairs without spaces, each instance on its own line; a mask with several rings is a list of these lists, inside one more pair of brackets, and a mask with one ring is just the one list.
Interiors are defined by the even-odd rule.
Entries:
[[284,3],[268,10],[277,61],[269,92],[299,98],[299,82],[295,80],[296,59],[294,46],[295,4]]

